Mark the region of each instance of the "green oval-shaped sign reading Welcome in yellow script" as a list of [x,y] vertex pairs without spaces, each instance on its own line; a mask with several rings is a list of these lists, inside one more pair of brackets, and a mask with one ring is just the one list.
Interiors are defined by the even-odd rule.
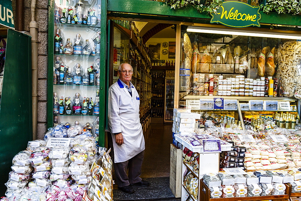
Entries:
[[217,9],[217,14],[212,13],[210,23],[221,23],[231,27],[260,27],[260,7],[253,7],[243,2],[223,2]]

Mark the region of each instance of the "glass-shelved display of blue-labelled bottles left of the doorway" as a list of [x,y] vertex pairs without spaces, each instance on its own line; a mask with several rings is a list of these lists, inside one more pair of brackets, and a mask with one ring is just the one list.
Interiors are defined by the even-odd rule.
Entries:
[[79,121],[97,134],[101,5],[79,1],[54,8],[54,125]]

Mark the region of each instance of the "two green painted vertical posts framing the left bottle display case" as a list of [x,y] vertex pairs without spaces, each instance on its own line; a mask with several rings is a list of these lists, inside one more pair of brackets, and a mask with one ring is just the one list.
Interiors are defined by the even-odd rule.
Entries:
[[[99,84],[99,146],[105,145],[105,129],[107,125],[107,1],[101,1],[101,51],[100,51],[100,84]],[[54,0],[48,1],[48,81],[47,81],[47,128],[53,125],[53,52],[54,52]]]

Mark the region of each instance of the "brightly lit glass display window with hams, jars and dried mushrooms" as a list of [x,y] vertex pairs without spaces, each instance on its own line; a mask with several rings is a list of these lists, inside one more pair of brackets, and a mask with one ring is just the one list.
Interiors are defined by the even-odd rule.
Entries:
[[180,32],[175,107],[201,113],[201,125],[211,119],[255,130],[276,119],[294,128],[300,106],[294,78],[301,75],[296,36],[202,26]]

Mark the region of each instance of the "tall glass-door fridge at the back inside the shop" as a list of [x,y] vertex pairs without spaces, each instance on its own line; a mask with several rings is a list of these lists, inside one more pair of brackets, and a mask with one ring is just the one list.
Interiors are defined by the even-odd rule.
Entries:
[[175,98],[175,79],[165,79],[164,123],[172,123],[173,105]]

